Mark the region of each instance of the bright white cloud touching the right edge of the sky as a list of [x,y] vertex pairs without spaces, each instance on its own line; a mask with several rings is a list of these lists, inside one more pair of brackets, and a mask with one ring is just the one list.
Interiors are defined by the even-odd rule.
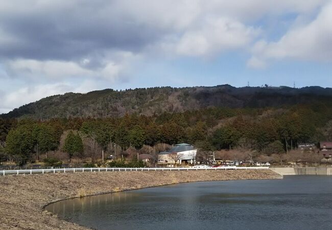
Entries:
[[[253,57],[260,59],[297,59],[332,61],[332,4],[326,5],[309,24],[292,28],[276,42],[258,41],[252,49]],[[248,62],[248,65],[250,63]]]

